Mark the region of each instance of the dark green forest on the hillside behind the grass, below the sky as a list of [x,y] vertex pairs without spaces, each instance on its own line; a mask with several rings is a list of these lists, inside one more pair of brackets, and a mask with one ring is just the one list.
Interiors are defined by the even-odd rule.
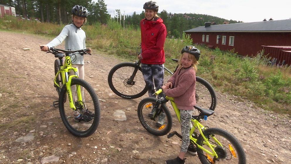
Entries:
[[[16,14],[20,17],[38,19],[41,22],[55,24],[70,23],[71,9],[75,4],[87,7],[89,11],[89,16],[87,18],[89,24],[107,24],[109,21],[118,21],[121,27],[139,29],[139,22],[144,18],[144,11],[142,11],[141,14],[136,14],[136,12],[134,12],[132,15],[125,16],[123,24],[124,15],[120,13],[120,9],[115,10],[115,15],[110,15],[104,0],[98,0],[97,2],[92,0],[0,0],[0,4],[15,7]],[[168,37],[173,38],[182,38],[183,31],[198,26],[204,26],[205,22],[212,22],[214,24],[241,22],[205,14],[172,14],[165,10],[160,11],[158,15],[163,19],[167,27]],[[119,19],[117,20],[118,17]]]

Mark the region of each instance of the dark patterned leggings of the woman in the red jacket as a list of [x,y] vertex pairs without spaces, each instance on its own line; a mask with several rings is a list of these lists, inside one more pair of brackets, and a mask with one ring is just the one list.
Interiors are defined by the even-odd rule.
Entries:
[[[143,79],[148,85],[148,95],[150,97],[155,97],[155,88],[160,89],[163,86],[164,81],[164,64],[141,64],[141,69],[143,72]],[[154,80],[153,80],[154,79]],[[154,82],[155,84],[154,84]],[[163,95],[160,94],[159,98]]]

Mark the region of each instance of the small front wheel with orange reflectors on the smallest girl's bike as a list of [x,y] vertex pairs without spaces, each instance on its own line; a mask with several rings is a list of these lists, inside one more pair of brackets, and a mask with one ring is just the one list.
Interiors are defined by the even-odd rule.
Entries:
[[[157,100],[157,98],[153,97],[144,98],[138,104],[137,113],[141,125],[148,132],[153,135],[162,136],[170,132],[172,128],[172,117],[165,104],[161,105],[161,113],[158,116],[155,115],[156,111],[153,110],[153,107],[156,105]],[[155,118],[150,116],[150,113],[155,115]]]

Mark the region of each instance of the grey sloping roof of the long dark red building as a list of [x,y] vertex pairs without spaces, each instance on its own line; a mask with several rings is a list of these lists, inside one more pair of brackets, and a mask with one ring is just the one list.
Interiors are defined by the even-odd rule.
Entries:
[[291,19],[200,26],[184,32],[291,32]]

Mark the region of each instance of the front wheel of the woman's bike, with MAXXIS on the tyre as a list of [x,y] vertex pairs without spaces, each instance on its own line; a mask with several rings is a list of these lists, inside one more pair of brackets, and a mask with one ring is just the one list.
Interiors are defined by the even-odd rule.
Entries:
[[[133,81],[130,80],[131,77]],[[116,95],[128,99],[139,98],[148,91],[141,67],[135,63],[120,63],[114,66],[108,74],[108,84]]]

